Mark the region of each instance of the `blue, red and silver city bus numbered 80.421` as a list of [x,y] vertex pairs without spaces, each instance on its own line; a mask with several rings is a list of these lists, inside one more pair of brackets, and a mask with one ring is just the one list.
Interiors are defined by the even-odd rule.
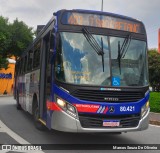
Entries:
[[141,131],[149,123],[147,35],[136,19],[59,10],[17,60],[17,109],[38,129]]

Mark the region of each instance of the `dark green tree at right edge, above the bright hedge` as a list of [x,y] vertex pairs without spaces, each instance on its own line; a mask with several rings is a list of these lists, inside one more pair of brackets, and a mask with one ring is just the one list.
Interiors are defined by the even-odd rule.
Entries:
[[149,82],[153,90],[160,91],[160,54],[156,50],[148,52]]

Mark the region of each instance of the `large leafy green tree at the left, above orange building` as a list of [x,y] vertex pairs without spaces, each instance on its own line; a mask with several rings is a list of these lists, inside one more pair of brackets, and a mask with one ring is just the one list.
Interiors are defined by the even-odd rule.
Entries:
[[19,57],[33,41],[34,32],[23,21],[8,22],[0,16],[0,69],[7,68],[9,56]]

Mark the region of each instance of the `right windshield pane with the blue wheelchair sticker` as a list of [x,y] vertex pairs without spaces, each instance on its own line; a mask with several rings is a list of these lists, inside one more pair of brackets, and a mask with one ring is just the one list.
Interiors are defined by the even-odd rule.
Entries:
[[112,86],[145,86],[148,85],[146,64],[146,42],[131,39],[128,47],[121,55],[120,65],[118,57],[118,43],[123,44],[124,38],[111,37],[112,78],[119,81]]

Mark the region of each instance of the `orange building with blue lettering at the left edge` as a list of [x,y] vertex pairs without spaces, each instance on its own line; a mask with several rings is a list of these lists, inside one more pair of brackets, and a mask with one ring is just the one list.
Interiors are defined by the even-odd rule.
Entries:
[[0,94],[12,94],[14,83],[15,58],[8,59],[8,69],[0,70]]

